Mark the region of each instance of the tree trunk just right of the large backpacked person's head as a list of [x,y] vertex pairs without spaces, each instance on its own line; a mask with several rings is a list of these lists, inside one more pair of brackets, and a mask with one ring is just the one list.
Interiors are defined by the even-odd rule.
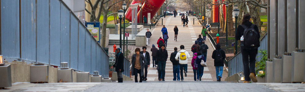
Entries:
[[[257,2],[259,0],[256,0]],[[253,20],[253,24],[257,25],[258,30],[261,31],[261,25],[260,25],[260,7],[258,6],[254,6],[251,4],[247,4],[249,6],[249,10],[250,10],[250,15],[251,15],[251,19]]]

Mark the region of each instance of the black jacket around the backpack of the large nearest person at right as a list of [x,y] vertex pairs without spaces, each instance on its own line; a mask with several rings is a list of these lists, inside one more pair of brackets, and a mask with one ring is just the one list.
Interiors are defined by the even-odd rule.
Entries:
[[[244,25],[246,25],[247,27],[250,27],[252,25],[252,23],[250,21],[247,21]],[[257,35],[258,36],[257,39],[260,40],[260,31],[258,30],[257,25],[254,26],[254,29],[255,29],[255,31],[258,34]],[[238,25],[237,31],[236,31],[236,34],[235,34],[235,39],[236,40],[240,40],[241,35],[244,35],[244,31],[245,31],[245,29],[241,25]]]

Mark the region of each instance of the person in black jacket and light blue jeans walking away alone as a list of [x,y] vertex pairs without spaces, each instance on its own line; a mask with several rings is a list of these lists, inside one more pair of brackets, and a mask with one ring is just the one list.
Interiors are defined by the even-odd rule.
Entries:
[[220,81],[223,71],[223,60],[226,59],[226,53],[220,48],[220,44],[216,44],[216,50],[212,53],[214,66],[216,69],[216,79]]

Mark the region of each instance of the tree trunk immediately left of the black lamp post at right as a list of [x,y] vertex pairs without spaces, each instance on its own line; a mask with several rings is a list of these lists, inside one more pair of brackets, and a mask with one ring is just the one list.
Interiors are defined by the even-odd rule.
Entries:
[[[233,10],[233,4],[228,4],[228,10]],[[234,36],[235,30],[233,28],[233,11],[228,11],[228,36]],[[234,21],[235,22],[235,21]]]

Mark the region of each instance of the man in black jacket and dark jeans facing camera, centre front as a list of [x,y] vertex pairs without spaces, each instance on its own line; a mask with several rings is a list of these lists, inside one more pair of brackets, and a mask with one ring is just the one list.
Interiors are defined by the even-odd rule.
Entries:
[[157,52],[159,81],[161,80],[165,81],[165,65],[168,56],[169,55],[167,53],[167,50],[165,49],[165,44],[161,44],[161,49],[159,49]]

